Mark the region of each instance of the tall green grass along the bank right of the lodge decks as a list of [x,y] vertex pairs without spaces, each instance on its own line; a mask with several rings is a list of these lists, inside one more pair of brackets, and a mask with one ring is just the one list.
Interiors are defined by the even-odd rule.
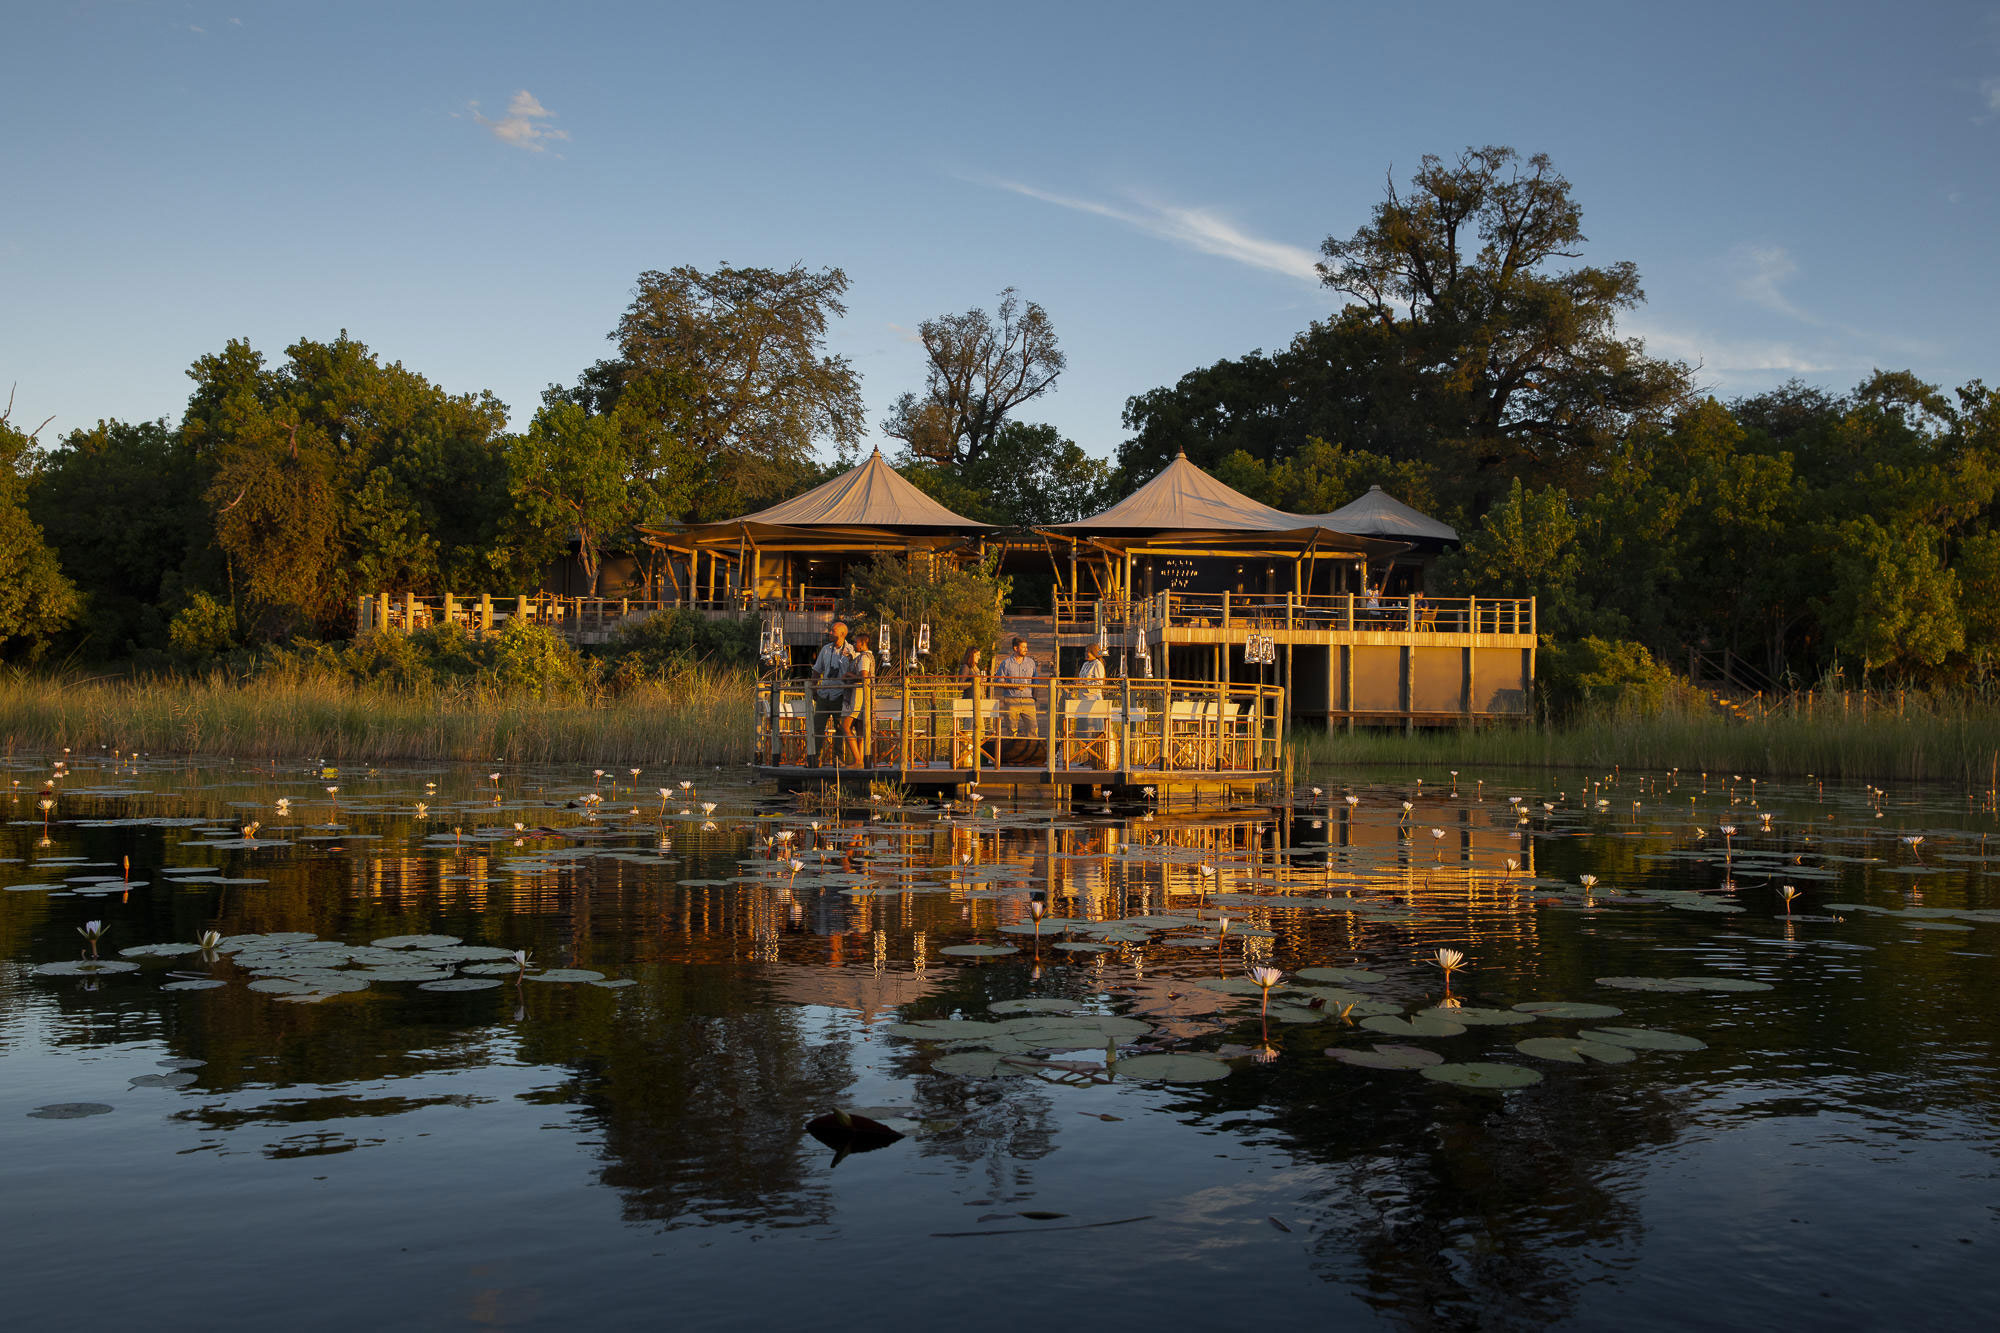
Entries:
[[1682,769],[1770,777],[1946,781],[1986,793],[2000,765],[2000,705],[1974,697],[1876,697],[1862,713],[1816,703],[1736,719],[1670,705],[1650,715],[1594,713],[1556,727],[1486,731],[1292,733],[1292,765],[1524,769]]

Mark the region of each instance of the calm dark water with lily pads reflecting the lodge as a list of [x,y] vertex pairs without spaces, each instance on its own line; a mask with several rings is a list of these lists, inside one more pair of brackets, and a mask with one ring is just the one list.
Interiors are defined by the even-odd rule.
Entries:
[[[44,837],[50,771],[14,759],[0,843],[16,1327],[1908,1327],[2000,1297],[2000,843],[1964,793],[1376,771],[1292,811],[842,815],[716,773],[76,757]],[[88,921],[136,967],[38,971]],[[1378,1031],[1440,1003],[1440,947],[1480,1021]],[[1254,965],[1308,987],[1262,1025]],[[1620,1013],[1512,1009],[1540,1001]],[[1326,1055],[1376,1045],[1540,1081]],[[906,1137],[836,1163],[806,1133],[836,1107]]]

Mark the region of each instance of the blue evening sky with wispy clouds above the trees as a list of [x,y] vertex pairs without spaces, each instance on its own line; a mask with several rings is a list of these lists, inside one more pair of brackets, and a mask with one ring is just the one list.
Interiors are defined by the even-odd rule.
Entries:
[[1110,454],[1128,396],[1330,314],[1320,242],[1468,144],[1550,154],[1584,260],[1638,264],[1624,330],[1718,396],[2000,382],[2000,4],[52,0],[0,106],[44,442],[340,330],[524,424],[640,272],[726,260],[846,270],[870,422],[918,322],[1018,288],[1070,360],[1024,416]]

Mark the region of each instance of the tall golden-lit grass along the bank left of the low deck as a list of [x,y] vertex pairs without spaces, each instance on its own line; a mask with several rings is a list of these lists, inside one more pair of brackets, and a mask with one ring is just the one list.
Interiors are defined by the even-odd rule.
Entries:
[[734,765],[754,747],[752,689],[748,675],[722,671],[570,701],[476,687],[356,687],[316,675],[22,675],[0,681],[0,739],[10,751],[40,753]]

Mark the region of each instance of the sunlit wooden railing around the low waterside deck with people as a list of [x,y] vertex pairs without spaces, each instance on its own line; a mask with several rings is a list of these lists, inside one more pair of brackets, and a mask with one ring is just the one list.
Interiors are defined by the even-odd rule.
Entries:
[[1264,775],[1278,769],[1282,725],[1276,685],[1116,677],[1008,687],[910,675],[820,695],[804,681],[768,679],[758,687],[756,753],[768,769],[952,771],[974,781],[1022,769],[1050,779]]

